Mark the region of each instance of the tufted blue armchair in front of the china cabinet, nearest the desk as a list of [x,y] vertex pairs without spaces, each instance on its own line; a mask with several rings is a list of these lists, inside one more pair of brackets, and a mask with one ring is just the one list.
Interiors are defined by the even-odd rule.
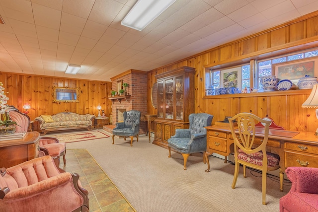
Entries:
[[[206,151],[207,130],[204,127],[210,126],[212,119],[213,115],[207,113],[192,113],[189,115],[190,128],[176,129],[175,135],[168,139],[168,157],[171,157],[171,148],[181,152],[184,170],[187,169],[186,163],[191,153]],[[206,163],[204,155],[203,162]]]

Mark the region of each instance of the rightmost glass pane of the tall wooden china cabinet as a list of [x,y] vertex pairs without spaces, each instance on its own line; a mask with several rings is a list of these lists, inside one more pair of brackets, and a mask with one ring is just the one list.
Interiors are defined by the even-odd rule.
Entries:
[[175,77],[175,119],[183,120],[183,76]]

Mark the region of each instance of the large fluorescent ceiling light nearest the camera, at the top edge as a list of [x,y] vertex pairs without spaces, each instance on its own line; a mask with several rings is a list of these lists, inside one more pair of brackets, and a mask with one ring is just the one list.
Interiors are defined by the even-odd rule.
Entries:
[[176,0],[138,0],[121,25],[143,30]]

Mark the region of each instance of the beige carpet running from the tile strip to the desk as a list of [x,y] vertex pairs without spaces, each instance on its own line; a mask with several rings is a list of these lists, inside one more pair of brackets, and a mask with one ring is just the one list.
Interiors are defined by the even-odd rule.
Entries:
[[[237,188],[232,189],[234,165],[210,157],[206,173],[202,154],[183,159],[148,142],[148,137],[129,141],[111,138],[68,143],[67,148],[86,148],[137,212],[278,212],[279,199],[290,190],[290,182],[279,191],[277,177],[267,178],[267,205],[262,205],[261,174],[242,167]],[[255,176],[253,176],[255,175]]]

